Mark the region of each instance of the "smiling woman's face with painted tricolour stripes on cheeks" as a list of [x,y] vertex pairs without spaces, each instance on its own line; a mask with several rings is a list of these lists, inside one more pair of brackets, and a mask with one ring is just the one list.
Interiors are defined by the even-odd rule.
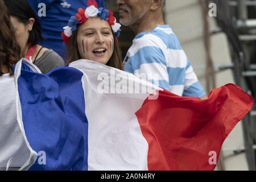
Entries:
[[89,18],[77,32],[77,47],[82,59],[108,63],[114,49],[114,37],[108,21]]

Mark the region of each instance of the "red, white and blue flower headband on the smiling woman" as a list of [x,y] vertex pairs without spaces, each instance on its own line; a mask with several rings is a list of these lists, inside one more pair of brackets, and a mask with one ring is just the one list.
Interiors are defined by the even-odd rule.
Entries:
[[94,5],[87,7],[86,10],[80,8],[78,11],[79,13],[77,13],[76,16],[71,16],[68,21],[68,26],[63,27],[64,32],[61,33],[61,37],[64,39],[65,44],[68,44],[69,38],[72,32],[76,31],[78,23],[85,23],[88,18],[97,16],[100,17],[100,19],[108,21],[115,33],[115,37],[119,37],[121,24],[117,23],[112,11],[106,10],[104,7],[97,9]]

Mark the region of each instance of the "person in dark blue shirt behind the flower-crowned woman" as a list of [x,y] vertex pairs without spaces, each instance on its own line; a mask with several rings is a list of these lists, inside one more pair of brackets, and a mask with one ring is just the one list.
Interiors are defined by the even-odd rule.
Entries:
[[[42,24],[43,37],[46,40],[40,45],[53,49],[67,61],[67,47],[60,34],[70,16],[76,14],[79,7],[88,7],[97,2],[98,7],[105,7],[104,0],[27,0],[38,14]],[[42,4],[41,4],[42,3]],[[45,6],[44,6],[45,5]],[[45,8],[45,16],[40,15]]]

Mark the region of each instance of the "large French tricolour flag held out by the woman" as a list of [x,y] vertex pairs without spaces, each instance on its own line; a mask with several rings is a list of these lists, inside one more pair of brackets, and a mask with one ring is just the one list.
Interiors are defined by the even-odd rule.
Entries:
[[14,78],[30,151],[20,170],[213,170],[209,154],[218,158],[253,105],[233,84],[214,89],[208,100],[180,97],[89,60],[43,75],[22,59]]

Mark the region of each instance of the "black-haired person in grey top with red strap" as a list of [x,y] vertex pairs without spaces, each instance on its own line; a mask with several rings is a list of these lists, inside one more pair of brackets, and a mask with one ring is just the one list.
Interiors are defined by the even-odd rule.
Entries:
[[63,59],[52,49],[38,45],[42,42],[40,21],[26,0],[4,0],[10,11],[15,37],[20,46],[21,56],[32,62],[42,73],[64,66]]

